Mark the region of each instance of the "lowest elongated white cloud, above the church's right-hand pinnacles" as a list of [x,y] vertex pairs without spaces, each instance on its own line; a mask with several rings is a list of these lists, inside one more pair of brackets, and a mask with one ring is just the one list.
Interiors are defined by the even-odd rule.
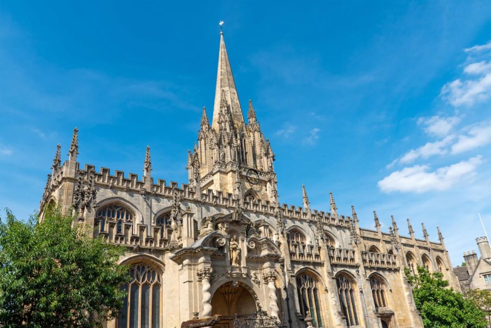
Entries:
[[378,181],[378,188],[385,193],[394,191],[423,193],[431,190],[446,190],[464,178],[472,177],[482,162],[480,155],[458,162],[451,166],[428,172],[427,165],[416,165],[392,172]]

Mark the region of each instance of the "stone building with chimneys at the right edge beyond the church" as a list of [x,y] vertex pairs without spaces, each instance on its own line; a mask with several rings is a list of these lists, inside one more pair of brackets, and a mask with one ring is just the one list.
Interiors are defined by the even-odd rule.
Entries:
[[454,268],[462,290],[491,290],[491,248],[487,237],[476,238],[481,257],[475,251],[464,252],[465,265]]

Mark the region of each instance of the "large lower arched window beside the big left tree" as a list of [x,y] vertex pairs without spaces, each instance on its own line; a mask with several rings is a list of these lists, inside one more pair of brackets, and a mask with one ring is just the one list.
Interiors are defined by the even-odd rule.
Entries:
[[130,268],[132,281],[122,286],[127,291],[118,315],[118,328],[160,327],[161,280],[160,274],[147,264]]

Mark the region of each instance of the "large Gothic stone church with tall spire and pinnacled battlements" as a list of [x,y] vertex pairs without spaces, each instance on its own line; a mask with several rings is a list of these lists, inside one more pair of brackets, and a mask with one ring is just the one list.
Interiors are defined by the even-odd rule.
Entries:
[[[198,140],[188,153],[188,184],[155,180],[150,148],[143,176],[77,162],[78,130],[68,160],[58,145],[40,203],[72,209],[93,236],[126,247],[133,281],[119,317],[107,327],[179,327],[219,314],[232,328],[262,309],[287,327],[422,327],[404,268],[441,271],[454,288],[443,237],[399,233],[392,217],[382,231],[359,227],[352,214],[281,204],[274,153],[249,101],[239,102],[223,33],[211,124],[203,108]],[[142,154],[143,155],[143,154]],[[143,156],[142,156],[143,157]],[[300,189],[299,189],[300,200]],[[91,230],[92,231],[92,230]]]

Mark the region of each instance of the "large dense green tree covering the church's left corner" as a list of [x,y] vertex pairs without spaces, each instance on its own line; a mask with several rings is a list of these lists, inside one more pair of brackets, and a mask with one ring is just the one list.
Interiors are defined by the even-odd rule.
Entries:
[[0,326],[93,327],[113,318],[126,292],[124,249],[72,228],[47,210],[42,221],[0,219]]

